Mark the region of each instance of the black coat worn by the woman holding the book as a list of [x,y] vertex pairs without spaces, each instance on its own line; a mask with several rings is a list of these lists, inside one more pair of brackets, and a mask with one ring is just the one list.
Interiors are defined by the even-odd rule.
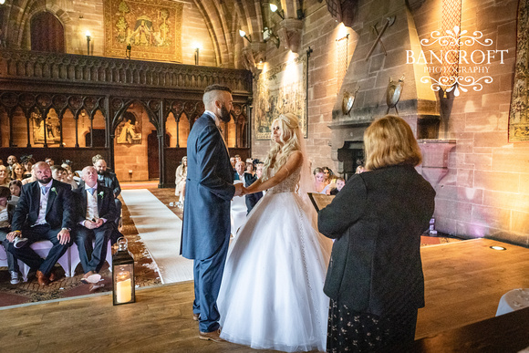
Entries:
[[435,191],[411,166],[355,174],[318,213],[322,234],[336,239],[327,296],[379,316],[424,306],[420,234]]

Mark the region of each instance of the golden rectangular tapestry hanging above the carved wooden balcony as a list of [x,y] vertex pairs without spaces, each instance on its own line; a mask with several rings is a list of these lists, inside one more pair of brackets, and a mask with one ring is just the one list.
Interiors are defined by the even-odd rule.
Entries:
[[104,0],[105,56],[182,62],[182,8],[169,0]]

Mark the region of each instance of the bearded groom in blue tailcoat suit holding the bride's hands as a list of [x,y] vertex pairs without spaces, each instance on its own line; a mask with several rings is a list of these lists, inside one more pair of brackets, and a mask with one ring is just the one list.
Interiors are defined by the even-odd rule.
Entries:
[[244,188],[233,185],[230,155],[219,130],[221,121],[231,119],[232,91],[212,85],[202,100],[205,111],[187,139],[181,252],[194,260],[192,317],[200,320],[199,337],[220,341],[216,301],[230,241],[230,201]]

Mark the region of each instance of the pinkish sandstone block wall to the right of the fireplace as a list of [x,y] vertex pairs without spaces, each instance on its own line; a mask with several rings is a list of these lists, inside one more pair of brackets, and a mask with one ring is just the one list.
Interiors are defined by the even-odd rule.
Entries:
[[[453,139],[448,173],[432,182],[437,192],[435,216],[442,233],[488,236],[529,245],[529,146],[509,143],[508,118],[516,51],[517,1],[465,1],[462,29],[493,39],[492,49],[506,49],[489,67],[493,83],[470,89],[451,102],[441,120],[440,136]],[[420,37],[439,30],[441,6],[428,1],[414,15]],[[476,47],[462,47],[472,51]],[[482,65],[485,66],[485,65]],[[475,75],[474,75],[475,76]],[[477,75],[480,76],[480,75]],[[482,76],[482,75],[481,75]]]

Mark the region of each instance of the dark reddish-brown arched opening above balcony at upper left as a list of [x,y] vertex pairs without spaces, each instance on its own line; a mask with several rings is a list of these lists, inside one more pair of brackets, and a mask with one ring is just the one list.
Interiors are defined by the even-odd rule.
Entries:
[[56,16],[41,12],[31,19],[31,50],[64,53],[64,27]]

